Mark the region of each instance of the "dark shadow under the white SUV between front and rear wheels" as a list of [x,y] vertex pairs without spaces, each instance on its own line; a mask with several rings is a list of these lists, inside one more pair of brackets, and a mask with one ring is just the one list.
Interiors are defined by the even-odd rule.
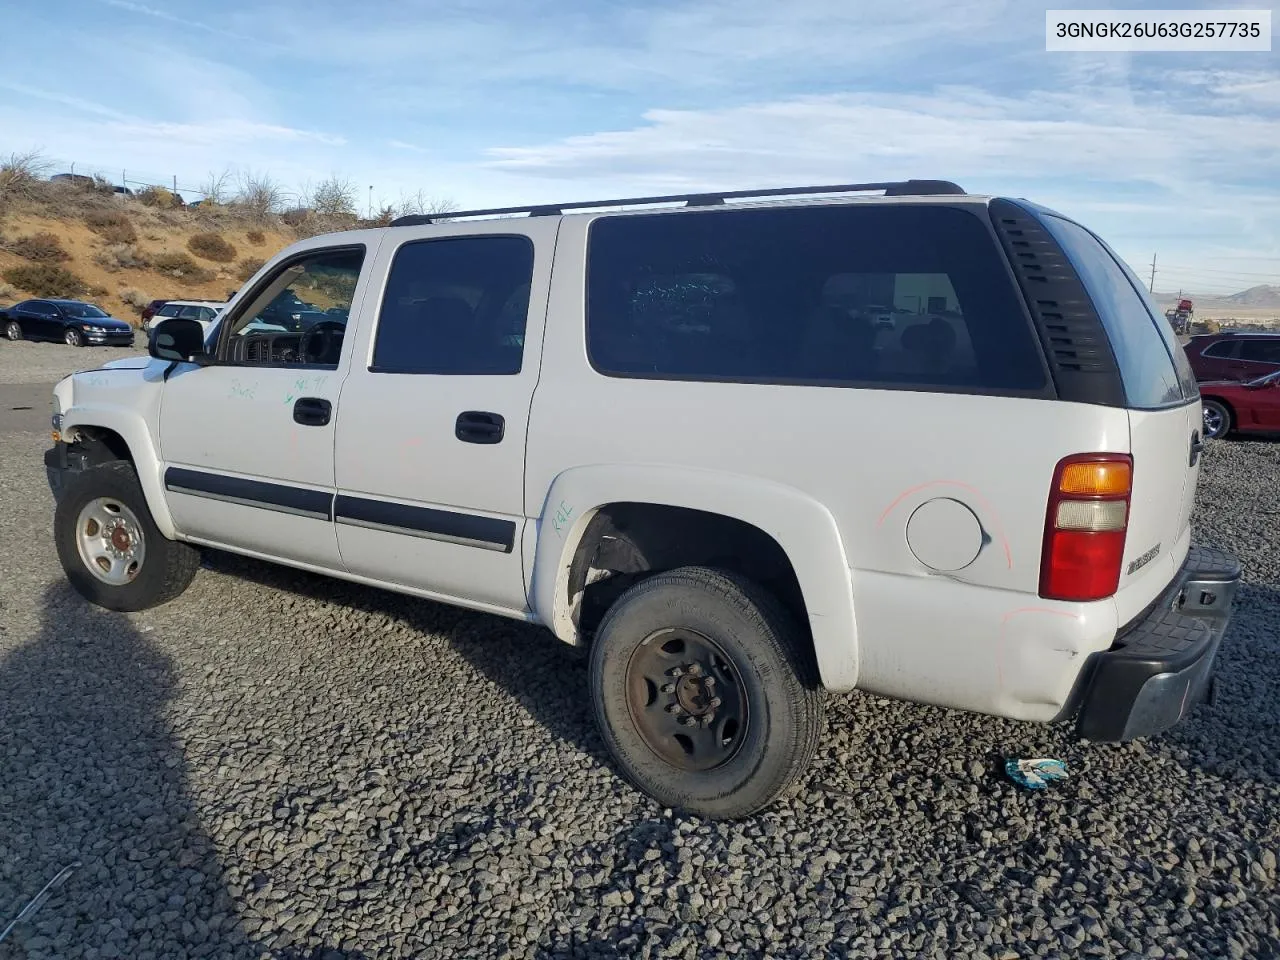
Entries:
[[220,550],[205,549],[204,564],[227,576],[392,617],[417,632],[443,636],[549,733],[603,764],[611,763],[586,696],[586,658],[543,627]]

